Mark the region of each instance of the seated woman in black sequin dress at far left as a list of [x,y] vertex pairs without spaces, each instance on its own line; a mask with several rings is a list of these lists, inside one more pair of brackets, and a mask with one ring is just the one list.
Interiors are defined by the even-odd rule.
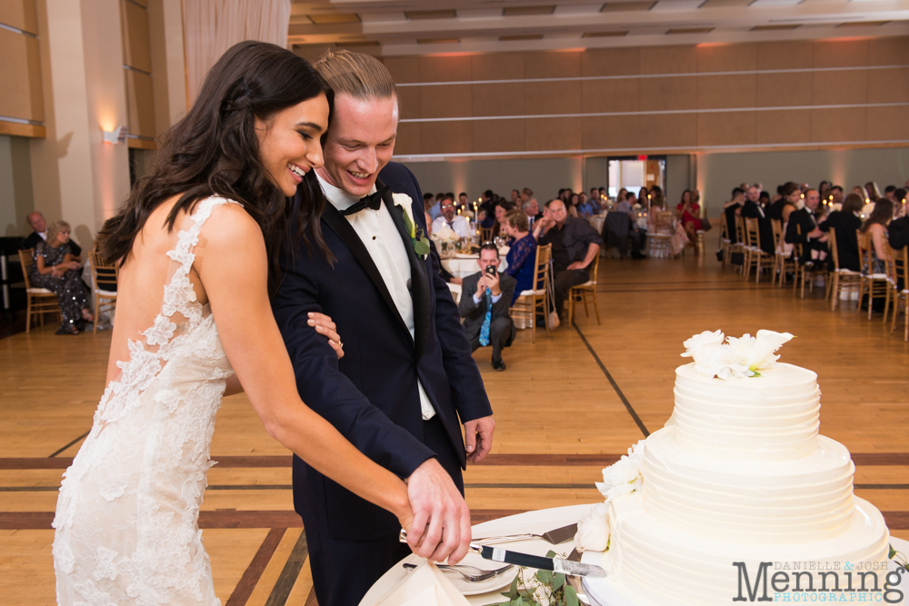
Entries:
[[82,281],[82,263],[70,253],[69,233],[65,221],[47,226],[47,242],[35,247],[35,263],[29,275],[32,286],[55,293],[60,302],[63,323],[57,334],[78,334],[85,322],[95,320]]

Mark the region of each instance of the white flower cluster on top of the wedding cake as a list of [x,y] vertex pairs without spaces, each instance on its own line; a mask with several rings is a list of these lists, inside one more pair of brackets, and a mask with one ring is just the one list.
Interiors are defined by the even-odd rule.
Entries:
[[711,378],[744,379],[773,368],[780,358],[774,353],[792,338],[790,333],[764,330],[757,336],[745,333],[737,339],[724,338],[722,331],[704,331],[684,342],[682,357],[694,360],[694,370]]

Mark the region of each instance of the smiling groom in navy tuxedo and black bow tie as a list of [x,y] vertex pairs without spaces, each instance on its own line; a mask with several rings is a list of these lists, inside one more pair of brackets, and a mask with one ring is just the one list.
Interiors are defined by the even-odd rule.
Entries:
[[[335,90],[317,171],[328,201],[322,233],[335,259],[305,247],[285,259],[275,319],[303,401],[405,478],[418,553],[454,560],[470,541],[461,470],[489,452],[492,409],[448,286],[418,242],[426,228],[420,186],[403,165],[389,164],[398,120],[391,75],[374,57],[347,51],[329,51],[315,67]],[[409,196],[409,213],[393,193]],[[345,343],[340,361],[307,325],[310,312],[335,321]],[[294,505],[321,606],[356,606],[410,552],[394,515],[296,457]]]

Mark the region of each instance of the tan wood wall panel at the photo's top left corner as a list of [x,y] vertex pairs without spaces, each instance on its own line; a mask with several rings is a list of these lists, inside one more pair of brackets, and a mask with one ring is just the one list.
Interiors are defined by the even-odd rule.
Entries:
[[[35,0],[0,2],[0,134],[45,136]],[[12,118],[12,120],[10,120]]]

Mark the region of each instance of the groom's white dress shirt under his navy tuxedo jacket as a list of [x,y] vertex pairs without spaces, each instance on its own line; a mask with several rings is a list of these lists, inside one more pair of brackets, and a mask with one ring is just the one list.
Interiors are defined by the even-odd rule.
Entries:
[[[325,192],[328,203],[339,211],[359,202],[359,198],[327,183],[321,175],[316,174],[316,176],[319,178],[319,184],[322,185],[322,191]],[[374,194],[375,191],[375,185],[373,185],[370,194]],[[385,283],[385,288],[392,295],[392,301],[395,302],[395,307],[413,338],[415,334],[414,299],[410,294],[410,260],[407,258],[404,241],[392,214],[385,204],[382,204],[377,211],[366,208],[359,213],[345,216],[345,219],[354,228],[369,256],[372,257],[375,268],[379,270],[382,281]],[[423,419],[427,421],[435,416],[435,409],[419,379],[416,380],[416,386],[420,391],[420,409],[423,412]]]

